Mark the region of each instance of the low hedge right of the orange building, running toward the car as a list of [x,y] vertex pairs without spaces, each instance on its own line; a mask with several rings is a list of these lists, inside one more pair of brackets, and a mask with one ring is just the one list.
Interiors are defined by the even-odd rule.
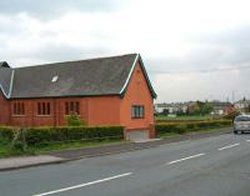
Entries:
[[215,120],[215,121],[200,121],[200,122],[171,122],[171,123],[158,123],[155,126],[157,136],[166,133],[185,133],[189,131],[198,131],[209,128],[224,127],[231,125],[230,120]]

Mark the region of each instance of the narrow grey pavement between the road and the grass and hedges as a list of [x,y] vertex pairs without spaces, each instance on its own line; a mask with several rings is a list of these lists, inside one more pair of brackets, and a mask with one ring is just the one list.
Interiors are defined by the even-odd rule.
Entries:
[[200,138],[212,137],[216,135],[222,135],[231,133],[231,129],[222,129],[216,132],[197,132],[185,135],[174,136],[166,139],[149,139],[149,140],[138,140],[135,142],[104,145],[99,147],[82,148],[74,150],[62,150],[47,153],[46,155],[37,156],[22,156],[22,157],[11,157],[11,158],[0,158],[0,171],[15,170],[27,167],[48,165],[48,164],[59,164],[68,161],[79,160],[82,158],[90,158],[111,154],[119,154],[129,151],[143,150],[148,148],[158,147],[163,144],[180,142],[185,140],[195,140]]

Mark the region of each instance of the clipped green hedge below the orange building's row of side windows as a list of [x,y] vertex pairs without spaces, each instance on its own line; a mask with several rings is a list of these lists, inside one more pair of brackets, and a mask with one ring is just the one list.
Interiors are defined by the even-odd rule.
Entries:
[[[28,145],[37,145],[51,142],[66,142],[77,140],[100,140],[123,138],[122,126],[107,127],[40,127],[24,130],[25,140]],[[11,127],[0,127],[0,139],[12,141],[14,132],[20,130]]]

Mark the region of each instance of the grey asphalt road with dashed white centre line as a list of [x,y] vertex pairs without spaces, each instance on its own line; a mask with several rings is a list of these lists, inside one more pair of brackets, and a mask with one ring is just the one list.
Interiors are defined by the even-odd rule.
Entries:
[[249,196],[250,135],[0,172],[0,195]]

